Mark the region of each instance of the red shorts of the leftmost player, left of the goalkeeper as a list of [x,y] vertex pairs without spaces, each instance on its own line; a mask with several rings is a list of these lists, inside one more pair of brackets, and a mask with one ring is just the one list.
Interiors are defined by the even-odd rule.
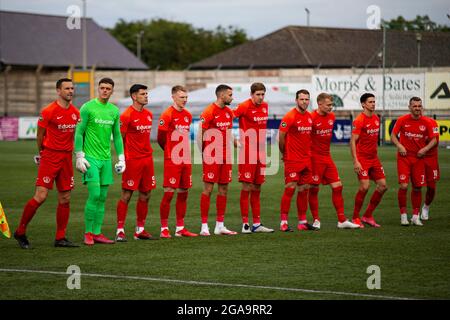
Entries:
[[72,152],[44,149],[41,153],[36,186],[53,189],[56,182],[58,191],[73,189]]

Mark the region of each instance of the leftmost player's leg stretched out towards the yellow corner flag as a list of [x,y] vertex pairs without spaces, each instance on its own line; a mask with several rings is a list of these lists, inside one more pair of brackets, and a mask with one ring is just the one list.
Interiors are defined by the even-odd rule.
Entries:
[[22,249],[29,249],[30,243],[26,236],[27,226],[36,214],[37,209],[44,203],[48,196],[48,190],[43,186],[36,186],[33,197],[28,200],[25,205],[22,217],[20,218],[19,226],[14,232],[14,238],[19,243]]

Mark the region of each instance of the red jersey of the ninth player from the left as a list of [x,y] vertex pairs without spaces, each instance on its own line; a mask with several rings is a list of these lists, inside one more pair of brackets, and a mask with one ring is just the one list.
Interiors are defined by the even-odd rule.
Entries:
[[353,120],[352,134],[359,135],[356,140],[356,156],[358,158],[377,158],[378,135],[380,134],[380,119],[376,114],[371,117],[360,113]]

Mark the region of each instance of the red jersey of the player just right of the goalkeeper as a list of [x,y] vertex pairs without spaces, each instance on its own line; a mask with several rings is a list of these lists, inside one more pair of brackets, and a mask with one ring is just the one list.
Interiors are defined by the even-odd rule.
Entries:
[[120,115],[120,132],[124,137],[125,159],[139,159],[152,155],[150,132],[152,130],[153,114],[143,108],[137,111],[129,106]]

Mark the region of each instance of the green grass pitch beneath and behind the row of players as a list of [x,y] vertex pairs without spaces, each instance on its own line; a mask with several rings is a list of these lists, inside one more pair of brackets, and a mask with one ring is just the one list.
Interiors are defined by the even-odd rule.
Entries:
[[[162,196],[162,152],[155,149],[158,188],[150,201],[148,230],[159,234],[159,202]],[[0,201],[12,230],[17,227],[26,201],[33,195],[36,166],[32,162],[34,141],[0,142]],[[431,220],[425,226],[401,227],[397,207],[395,149],[380,148],[390,189],[375,211],[380,229],[337,230],[329,187],[320,192],[322,230],[273,234],[239,234],[160,241],[134,241],[135,200],[130,204],[126,230],[129,242],[112,246],[96,245],[78,249],[56,249],[56,192],[50,193],[28,228],[33,250],[21,250],[14,239],[0,238],[0,268],[65,272],[78,265],[83,273],[141,276],[227,284],[303,288],[359,294],[425,299],[450,298],[450,151],[440,150],[442,178],[432,205]],[[351,217],[357,179],[347,146],[333,146],[332,154],[344,183],[346,215]],[[240,185],[234,170],[230,185],[226,225],[241,229]],[[193,168],[194,187],[190,191],[186,226],[199,232],[201,166]],[[115,205],[120,195],[120,179],[111,186],[104,233],[115,232]],[[371,189],[371,192],[373,187]],[[262,221],[278,229],[279,203],[283,192],[282,170],[267,178],[262,189]],[[70,239],[81,243],[86,188],[76,174],[72,194]],[[366,198],[366,204],[369,196]],[[213,198],[215,199],[215,198]],[[214,227],[215,201],[210,210]],[[295,226],[296,210],[291,205],[290,223]],[[174,207],[174,201],[172,208]],[[169,224],[175,225],[172,209]],[[309,216],[309,213],[308,213]],[[367,267],[381,268],[381,289],[369,290]],[[329,293],[291,292],[275,289],[220,287],[159,281],[82,277],[81,290],[68,290],[66,275],[0,272],[2,299],[364,299]]]

